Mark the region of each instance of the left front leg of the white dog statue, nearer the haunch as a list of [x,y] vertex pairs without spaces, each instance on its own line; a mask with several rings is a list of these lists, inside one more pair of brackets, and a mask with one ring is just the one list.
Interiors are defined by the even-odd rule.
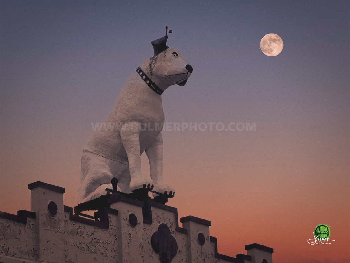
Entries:
[[140,126],[138,122],[128,122],[121,127],[121,141],[128,156],[130,171],[130,190],[151,186],[152,180],[142,178],[140,157]]

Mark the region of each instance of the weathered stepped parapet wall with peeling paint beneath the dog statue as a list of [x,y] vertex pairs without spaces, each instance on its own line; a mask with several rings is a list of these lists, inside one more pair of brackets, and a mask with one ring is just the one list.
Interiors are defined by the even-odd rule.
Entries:
[[[74,215],[63,205],[64,188],[42,182],[28,188],[31,212],[0,212],[0,262],[262,263],[265,259],[272,263],[273,249],[259,244],[247,245],[248,255],[219,254],[216,238],[210,236],[210,221],[187,216],[181,218],[180,227],[177,209],[167,205],[116,196],[95,221]],[[161,224],[170,234],[162,235],[156,251],[152,236],[160,233]],[[169,256],[175,241],[177,250]]]

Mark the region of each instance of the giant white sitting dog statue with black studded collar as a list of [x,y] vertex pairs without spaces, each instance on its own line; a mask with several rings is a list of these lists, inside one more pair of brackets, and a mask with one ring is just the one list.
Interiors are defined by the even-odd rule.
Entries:
[[[167,31],[166,33],[172,33]],[[163,183],[164,123],[162,96],[172,85],[184,86],[192,67],[179,50],[166,46],[168,35],[152,41],[154,56],[147,59],[127,80],[107,123],[118,124],[114,129],[95,130],[82,156],[81,202],[93,200],[112,188],[111,179],[118,179],[118,190],[133,190],[154,184],[159,193],[174,192]],[[146,151],[150,176],[141,176],[140,155]]]

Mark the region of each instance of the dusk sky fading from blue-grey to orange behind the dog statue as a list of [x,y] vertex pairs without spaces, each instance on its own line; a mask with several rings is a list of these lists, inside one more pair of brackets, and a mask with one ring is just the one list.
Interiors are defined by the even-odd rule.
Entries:
[[[220,253],[274,248],[275,263],[350,261],[349,1],[0,1],[0,210],[27,184],[77,204],[80,157],[128,76],[165,34],[193,66],[162,95],[166,122],[255,131],[163,131],[179,216],[211,220]],[[282,52],[264,55],[275,33]],[[148,176],[142,155],[142,174]],[[309,245],[317,224],[331,245]]]

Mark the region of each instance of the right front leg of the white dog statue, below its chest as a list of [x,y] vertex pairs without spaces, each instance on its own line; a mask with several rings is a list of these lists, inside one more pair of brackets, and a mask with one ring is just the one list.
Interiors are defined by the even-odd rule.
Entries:
[[171,186],[163,184],[163,138],[161,132],[156,136],[151,146],[146,149],[149,161],[150,175],[154,183],[154,191],[164,193],[174,191]]

